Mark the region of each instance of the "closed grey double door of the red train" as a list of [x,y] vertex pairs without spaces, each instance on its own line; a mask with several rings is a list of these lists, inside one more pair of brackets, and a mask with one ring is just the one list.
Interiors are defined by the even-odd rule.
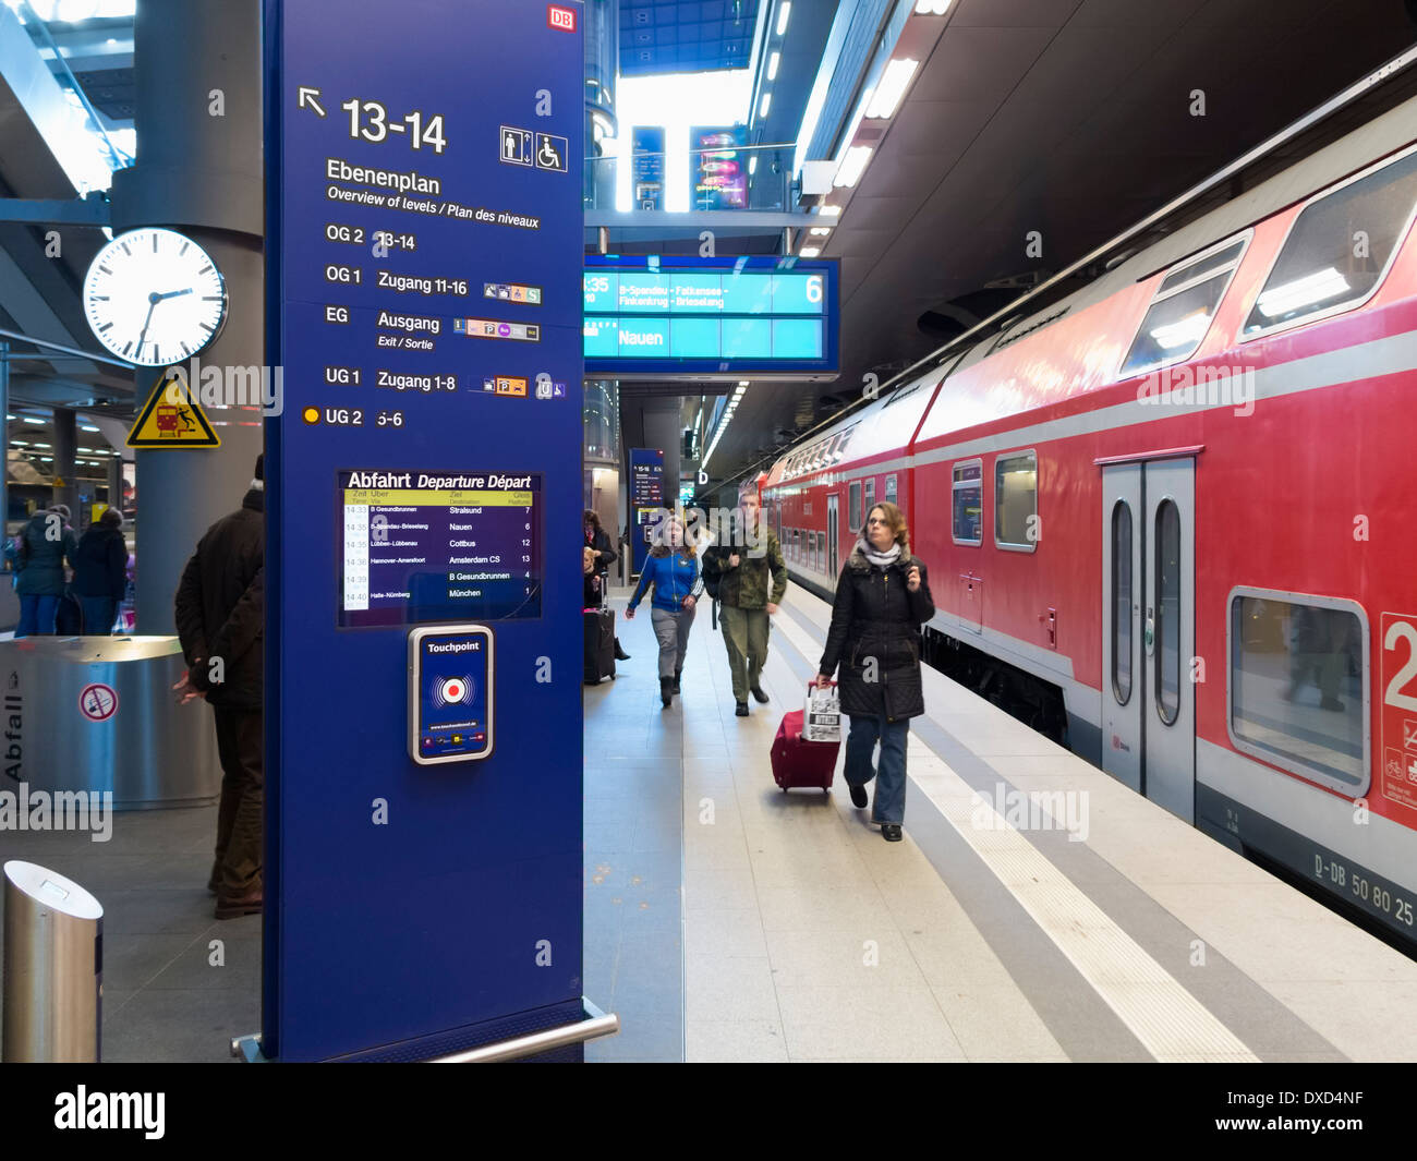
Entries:
[[1195,822],[1195,461],[1102,469],[1102,768]]

